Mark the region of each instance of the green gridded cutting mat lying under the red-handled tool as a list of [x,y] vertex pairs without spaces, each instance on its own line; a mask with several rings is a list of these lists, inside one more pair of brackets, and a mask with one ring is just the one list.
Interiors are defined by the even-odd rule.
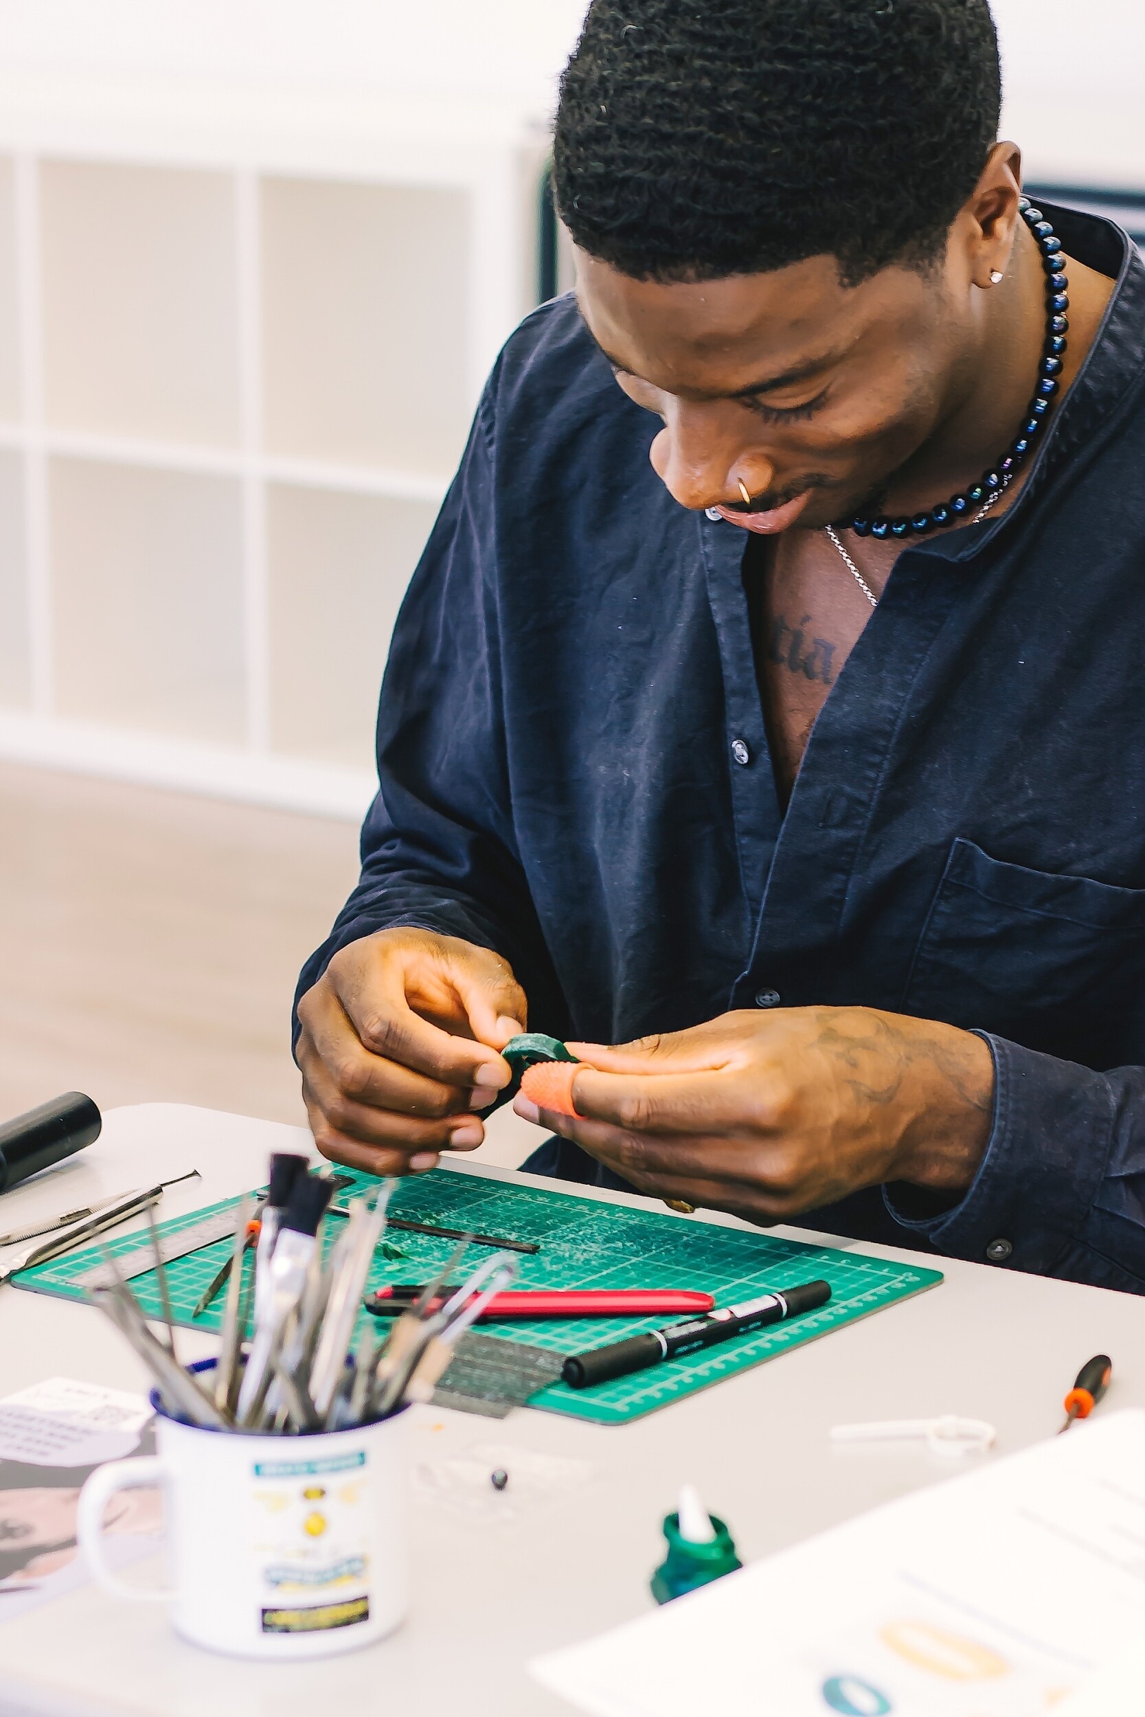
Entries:
[[[355,1174],[354,1180],[355,1186],[342,1192],[338,1202],[354,1197],[359,1188],[376,1185],[369,1174]],[[175,1235],[204,1216],[232,1209],[235,1204],[237,1200],[225,1200],[206,1210],[192,1210],[160,1224],[161,1233]],[[706,1353],[687,1355],[635,1372],[632,1377],[618,1377],[596,1389],[568,1389],[558,1382],[530,1398],[530,1406],[594,1420],[599,1425],[625,1425],[942,1281],[939,1271],[918,1269],[906,1262],[803,1245],[754,1229],[719,1228],[700,1217],[668,1212],[661,1216],[548,1186],[486,1180],[463,1169],[434,1169],[431,1174],[403,1181],[390,1202],[390,1214],[441,1228],[537,1241],[541,1247],[537,1253],[515,1253],[520,1267],[518,1288],[695,1288],[714,1295],[718,1305],[735,1305],[772,1288],[793,1288],[797,1283],[817,1277],[831,1283],[831,1300],[809,1317],[740,1336]],[[338,1228],[336,1217],[326,1223],[328,1245],[333,1243]],[[390,1229],[390,1240],[400,1247],[403,1257],[385,1259],[379,1250],[369,1277],[371,1289],[388,1281],[429,1281],[445,1267],[453,1250],[450,1240],[433,1240],[400,1229]],[[130,1257],[141,1247],[149,1248],[146,1233],[125,1235],[106,1243],[106,1250],[118,1259]],[[228,1250],[230,1241],[220,1240],[168,1264],[168,1293],[177,1324],[208,1331],[220,1327],[221,1296],[194,1324],[191,1312],[227,1260]],[[472,1247],[470,1265],[488,1255],[488,1248]],[[22,1271],[14,1281],[17,1288],[82,1300],[84,1289],[76,1286],[76,1277],[98,1265],[101,1259],[103,1250],[98,1245],[89,1247]],[[130,1286],[148,1315],[161,1315],[154,1272],[134,1277]],[[378,1322],[367,1312],[359,1315],[359,1329],[376,1329]],[[512,1326],[482,1324],[482,1332],[558,1353],[582,1353],[585,1348],[620,1341],[666,1322],[673,1319],[544,1319]]]

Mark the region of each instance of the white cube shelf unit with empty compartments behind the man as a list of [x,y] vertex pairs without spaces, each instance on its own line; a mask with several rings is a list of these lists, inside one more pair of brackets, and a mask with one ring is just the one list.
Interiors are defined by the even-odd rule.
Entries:
[[360,816],[542,155],[489,105],[0,79],[2,757]]

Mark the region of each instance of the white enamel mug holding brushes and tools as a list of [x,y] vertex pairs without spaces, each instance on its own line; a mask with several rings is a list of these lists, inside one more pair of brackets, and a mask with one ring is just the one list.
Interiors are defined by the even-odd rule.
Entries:
[[[76,1537],[120,1599],[168,1602],[175,1631],[239,1657],[328,1657],[391,1633],[407,1605],[405,1413],[309,1437],[201,1430],[156,1413],[154,1456],[100,1466]],[[168,1588],[103,1550],[117,1490],[163,1487]]]

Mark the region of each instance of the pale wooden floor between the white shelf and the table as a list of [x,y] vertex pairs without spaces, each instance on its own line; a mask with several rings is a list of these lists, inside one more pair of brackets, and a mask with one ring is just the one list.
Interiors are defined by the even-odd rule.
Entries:
[[[86,1090],[302,1125],[294,984],[355,876],[348,822],[0,764],[0,1118]],[[484,1161],[541,1138],[493,1125]]]

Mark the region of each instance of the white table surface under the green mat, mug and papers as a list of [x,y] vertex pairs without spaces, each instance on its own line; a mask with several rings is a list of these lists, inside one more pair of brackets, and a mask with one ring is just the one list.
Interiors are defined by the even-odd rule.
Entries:
[[[203,1180],[165,1195],[160,1214],[172,1217],[261,1185],[268,1152],[285,1149],[312,1149],[309,1135],[175,1104],[115,1109],[93,1147],[3,1197],[3,1228],[199,1169]],[[0,1623],[0,1717],[556,1717],[568,1707],[529,1679],[525,1660],[649,1607],[661,1518],[683,1480],[699,1485],[750,1561],[961,1470],[905,1444],[831,1447],[827,1429],[839,1420],[956,1411],[992,1420],[997,1453],[1009,1453],[1057,1429],[1075,1372],[1102,1351],[1114,1360],[1109,1405],[1145,1406],[1145,1301],[917,1260],[941,1264],[946,1283],[633,1425],[417,1408],[414,1461],[424,1466],[494,1442],[508,1451],[510,1487],[513,1447],[572,1456],[587,1470],[510,1521],[477,1521],[415,1496],[410,1619],[371,1650],[290,1665],[215,1657],[179,1640],[161,1605],[117,1602],[88,1585]],[[189,1356],[213,1348],[191,1332],[184,1344]],[[146,1389],[134,1353],[94,1310],[10,1286],[0,1288],[0,1356],[3,1394],[57,1374]],[[160,1576],[156,1557],[127,1578]]]

